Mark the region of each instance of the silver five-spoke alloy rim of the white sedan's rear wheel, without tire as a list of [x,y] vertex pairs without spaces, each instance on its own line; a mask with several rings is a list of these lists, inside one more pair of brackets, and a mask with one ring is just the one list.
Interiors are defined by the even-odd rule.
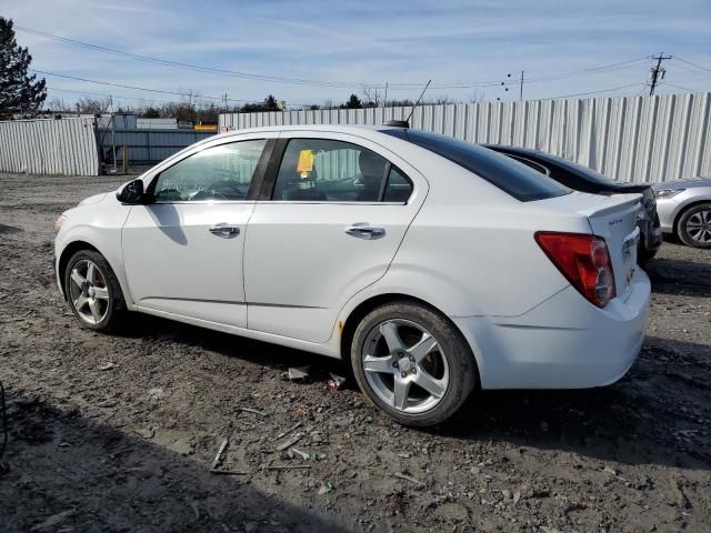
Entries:
[[449,364],[439,341],[410,320],[375,325],[363,343],[361,364],[378,398],[402,413],[435,408],[449,386]]

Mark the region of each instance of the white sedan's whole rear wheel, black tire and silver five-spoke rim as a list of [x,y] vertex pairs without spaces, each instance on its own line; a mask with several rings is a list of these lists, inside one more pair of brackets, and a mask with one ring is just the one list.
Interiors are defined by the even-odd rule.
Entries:
[[419,303],[377,308],[356,329],[353,372],[368,399],[397,422],[443,422],[477,385],[473,354],[457,328]]

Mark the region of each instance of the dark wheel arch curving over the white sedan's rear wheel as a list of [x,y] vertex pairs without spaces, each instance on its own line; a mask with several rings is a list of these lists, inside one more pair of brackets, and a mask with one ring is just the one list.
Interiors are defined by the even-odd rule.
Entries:
[[[353,310],[348,314],[348,316],[346,318],[344,321],[339,322],[339,329],[341,332],[341,336],[340,336],[340,354],[341,354],[341,359],[343,360],[343,362],[346,362],[347,364],[351,363],[351,344],[353,342],[353,336],[356,333],[356,329],[358,328],[358,324],[361,322],[361,320],[368,314],[370,313],[372,310],[380,308],[382,305],[385,305],[388,303],[392,303],[392,302],[411,302],[411,303],[417,303],[420,305],[423,305],[428,309],[430,309],[431,311],[434,311],[435,313],[438,313],[439,315],[441,315],[443,319],[448,320],[452,326],[459,332],[459,334],[462,336],[462,340],[467,343],[467,345],[469,346],[473,360],[474,360],[474,371],[477,372],[477,383],[481,383],[481,375],[480,375],[480,359],[479,359],[479,354],[478,354],[478,350],[477,346],[473,346],[471,344],[471,342],[469,341],[468,336],[464,334],[463,331],[461,331],[461,329],[459,328],[459,325],[457,325],[457,323],[454,323],[448,315],[447,313],[442,312],[440,309],[438,309],[435,305],[432,305],[430,302],[422,300],[421,298],[417,298],[413,296],[411,294],[404,294],[404,293],[399,293],[399,292],[388,292],[388,293],[382,293],[382,294],[375,294],[372,295],[365,300],[363,300],[362,302],[360,302],[358,305],[356,305],[356,308],[353,308]],[[341,326],[342,324],[342,326]]]

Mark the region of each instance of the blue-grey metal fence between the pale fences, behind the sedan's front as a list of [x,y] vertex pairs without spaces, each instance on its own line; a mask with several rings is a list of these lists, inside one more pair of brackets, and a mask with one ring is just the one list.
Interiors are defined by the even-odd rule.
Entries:
[[[179,152],[186,147],[202,139],[213,135],[210,131],[196,130],[143,130],[143,129],[99,129],[98,139],[101,150],[104,153],[104,161],[109,161],[113,143],[116,142],[117,153],[121,147],[126,147],[129,152],[131,163],[156,163]],[[116,134],[116,139],[112,135]],[[118,155],[120,158],[120,155]]]

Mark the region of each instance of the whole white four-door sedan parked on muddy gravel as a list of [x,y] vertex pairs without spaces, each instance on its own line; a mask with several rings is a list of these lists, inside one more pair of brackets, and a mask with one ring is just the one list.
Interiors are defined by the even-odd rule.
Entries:
[[241,130],[64,212],[57,279],[86,328],[139,311],[341,358],[395,421],[431,425],[474,389],[628,371],[640,198],[408,128]]

